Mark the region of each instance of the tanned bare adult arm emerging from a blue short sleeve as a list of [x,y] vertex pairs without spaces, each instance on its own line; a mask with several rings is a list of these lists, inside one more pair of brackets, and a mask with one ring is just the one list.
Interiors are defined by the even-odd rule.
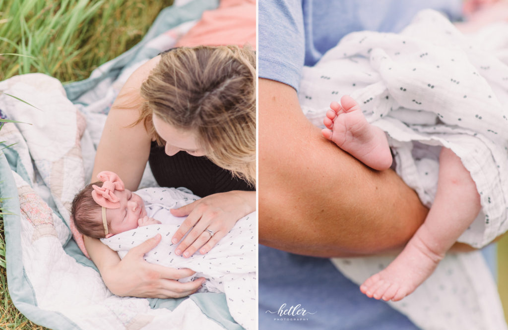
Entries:
[[417,194],[322,138],[291,87],[261,79],[259,93],[260,243],[322,257],[402,247],[428,212]]

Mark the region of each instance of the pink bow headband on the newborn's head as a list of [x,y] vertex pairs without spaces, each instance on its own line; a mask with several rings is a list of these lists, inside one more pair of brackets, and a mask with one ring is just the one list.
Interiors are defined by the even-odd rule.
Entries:
[[103,182],[102,187],[92,185],[92,198],[102,206],[102,223],[104,225],[104,233],[108,235],[108,222],[106,220],[106,208],[118,209],[120,207],[120,200],[115,195],[115,190],[123,190],[125,186],[123,181],[117,174],[110,171],[102,171],[97,175],[97,178]]

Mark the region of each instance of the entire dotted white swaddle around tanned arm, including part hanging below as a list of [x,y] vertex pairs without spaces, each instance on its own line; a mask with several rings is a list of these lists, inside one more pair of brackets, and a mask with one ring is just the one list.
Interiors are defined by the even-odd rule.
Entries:
[[[507,32],[504,25],[489,36],[502,40]],[[505,41],[491,45],[508,49]],[[508,229],[508,62],[496,54],[441,14],[422,11],[400,34],[345,36],[314,67],[304,68],[299,101],[307,118],[322,126],[331,101],[354,97],[367,120],[388,134],[397,174],[429,207],[440,146],[452,149],[470,172],[482,204],[459,241],[483,247]],[[392,305],[423,328],[506,328],[495,284],[475,253],[448,255],[429,280]],[[333,261],[362,283],[391,259]],[[467,263],[482,270],[473,274]],[[482,294],[476,281],[488,287]],[[439,301],[443,295],[448,298]],[[460,319],[464,313],[469,314]]]

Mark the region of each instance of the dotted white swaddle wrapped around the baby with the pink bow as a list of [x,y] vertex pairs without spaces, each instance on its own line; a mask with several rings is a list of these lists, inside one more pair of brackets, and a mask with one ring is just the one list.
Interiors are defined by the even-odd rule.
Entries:
[[[185,189],[186,190],[186,189]],[[188,190],[187,190],[188,191]],[[128,230],[101,241],[123,258],[133,247],[161,234],[162,240],[145,254],[148,262],[171,268],[189,268],[194,278],[205,277],[203,291],[224,292],[231,316],[247,329],[256,328],[256,213],[238,220],[231,231],[208,253],[196,252],[189,258],[176,255],[171,238],[185,217],[175,217],[170,209],[199,199],[182,188],[145,188],[136,191],[145,201],[149,217],[162,222]],[[190,280],[186,279],[187,281]]]

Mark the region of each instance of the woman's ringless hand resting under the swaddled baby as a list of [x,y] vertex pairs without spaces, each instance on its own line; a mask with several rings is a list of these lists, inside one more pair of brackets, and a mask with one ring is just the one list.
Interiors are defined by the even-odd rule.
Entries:
[[[115,265],[100,268],[106,286],[116,295],[141,298],[180,298],[196,292],[205,282],[203,277],[193,282],[177,280],[195,274],[190,269],[173,269],[149,263],[143,255],[161,242],[161,235],[132,248]],[[102,244],[102,243],[101,243]]]

